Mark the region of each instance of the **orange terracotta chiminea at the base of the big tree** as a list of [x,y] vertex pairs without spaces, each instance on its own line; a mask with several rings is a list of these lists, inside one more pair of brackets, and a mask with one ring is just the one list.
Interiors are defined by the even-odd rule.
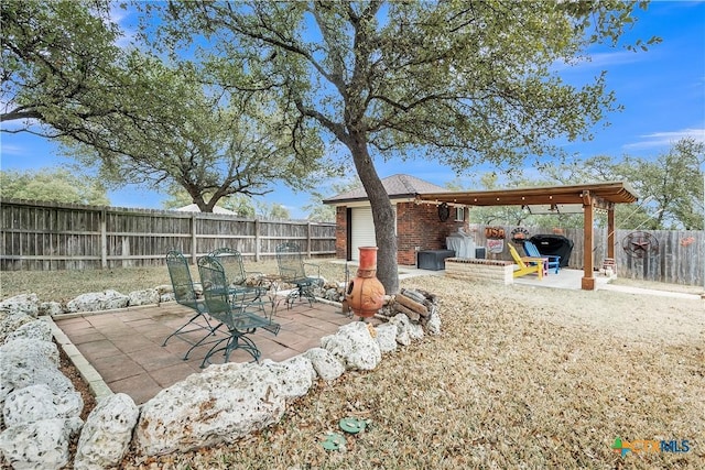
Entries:
[[377,247],[360,247],[357,276],[345,292],[350,310],[360,318],[373,316],[384,303],[384,286],[377,278]]

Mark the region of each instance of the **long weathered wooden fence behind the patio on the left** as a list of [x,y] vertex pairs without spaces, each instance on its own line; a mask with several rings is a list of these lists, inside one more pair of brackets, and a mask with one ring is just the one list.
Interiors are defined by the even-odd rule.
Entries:
[[307,256],[335,255],[335,223],[0,199],[2,271],[161,265],[231,247],[259,261],[284,241]]

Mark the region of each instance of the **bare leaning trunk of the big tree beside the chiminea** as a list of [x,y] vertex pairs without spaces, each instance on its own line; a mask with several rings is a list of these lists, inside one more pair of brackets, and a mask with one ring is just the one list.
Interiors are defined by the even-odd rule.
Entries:
[[399,291],[399,270],[397,264],[397,236],[394,233],[394,210],[392,203],[382,186],[382,181],[375,170],[367,150],[367,141],[361,134],[352,135],[348,145],[362,187],[372,206],[375,238],[377,240],[377,277],[384,286],[387,294]]

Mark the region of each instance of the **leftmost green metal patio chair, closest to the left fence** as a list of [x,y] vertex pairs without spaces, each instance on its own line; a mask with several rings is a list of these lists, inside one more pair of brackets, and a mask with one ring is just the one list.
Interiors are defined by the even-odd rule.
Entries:
[[[162,346],[166,346],[170,339],[177,337],[191,345],[188,351],[184,356],[184,360],[188,359],[188,354],[195,348],[202,345],[208,345],[209,338],[215,338],[215,332],[223,326],[219,321],[214,321],[208,315],[208,308],[203,299],[198,299],[194,289],[194,283],[188,270],[188,262],[184,255],[176,250],[166,253],[166,267],[169,276],[172,280],[174,288],[174,297],[176,302],[195,311],[195,315],[182,325],[176,331],[169,335]],[[198,340],[194,338],[196,332],[206,332]]]

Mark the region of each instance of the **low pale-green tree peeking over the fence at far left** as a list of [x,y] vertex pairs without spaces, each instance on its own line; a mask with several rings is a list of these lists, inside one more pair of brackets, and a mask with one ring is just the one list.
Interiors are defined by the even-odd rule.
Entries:
[[106,187],[98,178],[68,168],[0,171],[0,196],[93,206],[110,204]]

